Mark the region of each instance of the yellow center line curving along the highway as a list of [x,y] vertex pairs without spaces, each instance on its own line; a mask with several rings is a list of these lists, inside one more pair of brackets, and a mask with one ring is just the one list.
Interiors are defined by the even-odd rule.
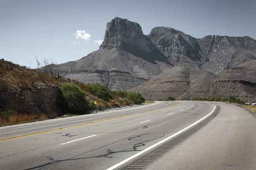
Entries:
[[[175,105],[178,105],[178,104],[180,104],[180,102],[177,102]],[[175,105],[171,105],[171,106],[164,107],[164,108],[169,108],[169,107],[172,107],[172,106],[175,106]],[[116,116],[116,117],[112,117],[112,118],[108,118],[108,119],[95,120],[95,121],[92,121],[92,122],[85,122],[85,123],[81,123],[81,124],[78,124],[78,125],[72,125],[72,126],[67,126],[67,127],[60,127],[60,128],[57,128],[57,129],[44,130],[44,131],[40,131],[40,132],[23,134],[23,135],[19,135],[19,136],[7,137],[7,138],[0,139],[0,142],[1,141],[6,141],[6,140],[10,140],[10,139],[17,139],[17,138],[22,138],[22,137],[26,137],[26,136],[33,136],[33,135],[37,135],[37,134],[53,132],[53,131],[57,131],[57,130],[63,130],[63,129],[73,128],[73,127],[84,126],[84,125],[88,125],[88,124],[92,124],[92,123],[96,123],[96,122],[105,122],[105,121],[108,121],[108,120],[117,119],[117,118],[121,118],[121,117],[127,117],[127,116],[142,114],[142,113],[149,113],[149,112],[154,111],[154,110],[156,110],[156,109],[151,109],[149,111],[144,111],[144,112],[134,113],[134,114],[128,114],[128,115],[123,115],[123,116]]]

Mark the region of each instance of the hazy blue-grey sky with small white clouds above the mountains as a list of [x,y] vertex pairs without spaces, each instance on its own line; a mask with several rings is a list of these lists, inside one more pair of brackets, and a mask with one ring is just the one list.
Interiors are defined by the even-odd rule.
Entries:
[[58,64],[99,49],[114,17],[206,35],[256,39],[256,0],[0,0],[0,58],[36,67]]

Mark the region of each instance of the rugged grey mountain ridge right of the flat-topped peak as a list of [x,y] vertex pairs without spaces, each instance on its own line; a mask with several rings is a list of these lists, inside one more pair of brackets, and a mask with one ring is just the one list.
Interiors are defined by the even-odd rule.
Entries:
[[148,37],[168,60],[218,74],[256,59],[256,40],[209,35],[196,39],[173,28],[155,27]]

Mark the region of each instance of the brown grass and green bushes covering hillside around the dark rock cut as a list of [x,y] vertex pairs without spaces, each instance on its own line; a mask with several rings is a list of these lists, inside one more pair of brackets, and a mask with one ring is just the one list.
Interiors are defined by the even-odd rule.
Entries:
[[[48,61],[44,59],[44,61]],[[52,64],[52,62],[50,62]],[[44,66],[44,64],[41,64]],[[47,62],[45,63],[47,65]],[[39,65],[38,65],[39,67]],[[52,68],[42,70],[30,69],[12,62],[0,60],[0,96],[5,95],[23,97],[23,92],[37,91],[42,88],[57,88],[58,111],[50,113],[19,113],[15,109],[4,109],[8,103],[0,103],[0,126],[25,122],[34,122],[63,116],[94,113],[111,107],[141,104],[145,99],[140,93],[127,91],[110,91],[100,84],[84,84],[72,79],[66,79],[53,72]],[[25,98],[23,100],[26,100]],[[97,102],[95,105],[94,102]]]

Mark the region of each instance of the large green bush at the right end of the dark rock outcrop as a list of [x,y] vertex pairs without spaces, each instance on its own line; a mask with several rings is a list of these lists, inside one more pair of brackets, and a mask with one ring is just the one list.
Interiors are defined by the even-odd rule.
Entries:
[[61,85],[64,102],[70,113],[82,114],[90,109],[86,100],[87,93],[73,83]]

